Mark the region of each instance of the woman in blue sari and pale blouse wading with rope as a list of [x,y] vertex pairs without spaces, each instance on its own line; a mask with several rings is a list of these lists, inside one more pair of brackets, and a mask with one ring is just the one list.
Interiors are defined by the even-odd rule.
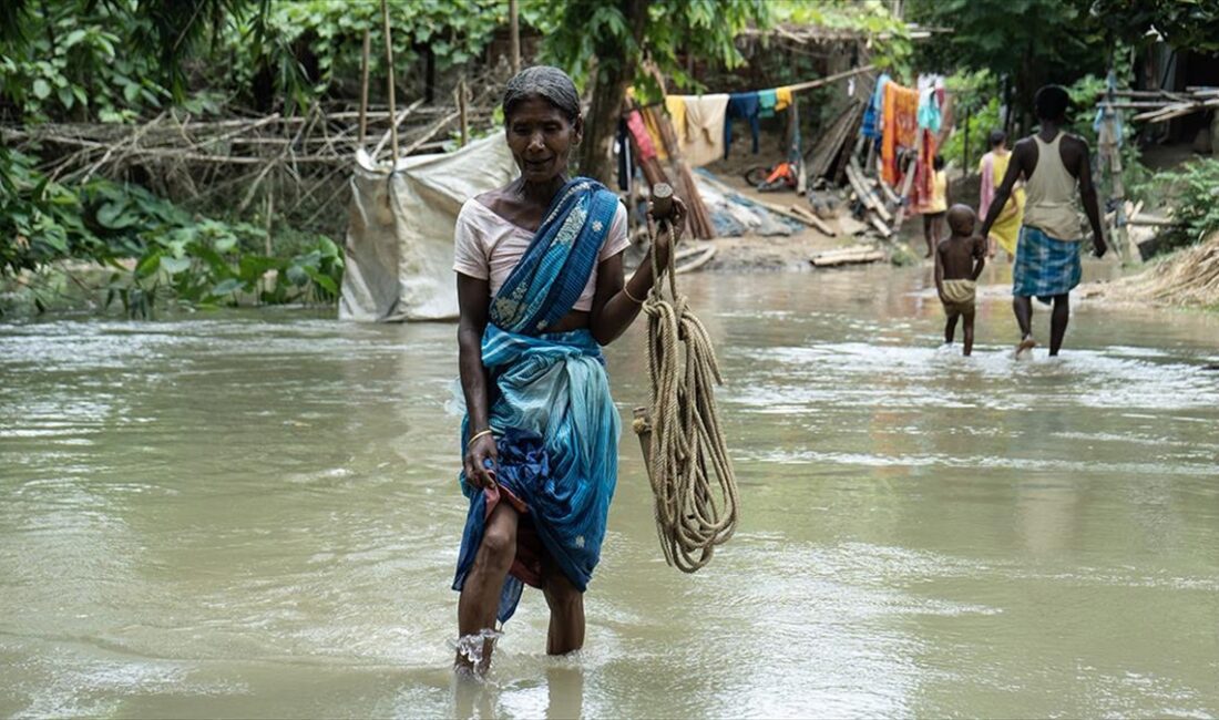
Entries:
[[[522,71],[505,89],[503,118],[521,177],[466,201],[453,263],[469,498],[453,579],[456,663],[479,671],[523,585],[550,605],[547,653],[584,644],[584,591],[618,474],[620,420],[601,346],[630,325],[655,281],[645,259],[623,283],[617,195],[568,178],[584,128],[572,79]],[[667,262],[668,244],[652,252]]]

